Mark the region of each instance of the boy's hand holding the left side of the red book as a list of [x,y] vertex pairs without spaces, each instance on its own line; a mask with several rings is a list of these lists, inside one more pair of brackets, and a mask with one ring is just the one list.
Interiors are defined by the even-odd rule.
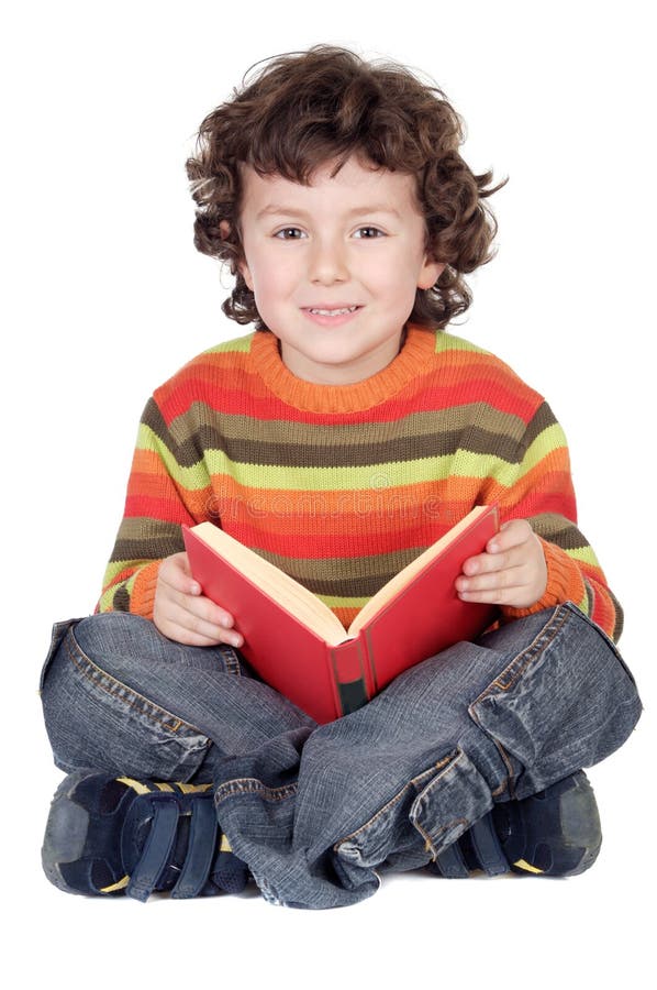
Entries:
[[160,632],[185,646],[241,647],[243,637],[233,629],[234,619],[207,598],[191,576],[187,553],[174,553],[159,565],[153,622]]

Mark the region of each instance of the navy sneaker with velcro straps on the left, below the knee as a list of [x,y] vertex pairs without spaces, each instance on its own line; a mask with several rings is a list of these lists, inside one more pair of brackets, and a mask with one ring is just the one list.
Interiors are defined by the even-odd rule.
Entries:
[[46,877],[68,893],[238,893],[249,878],[219,831],[211,784],[155,783],[79,770],[57,789],[42,848]]

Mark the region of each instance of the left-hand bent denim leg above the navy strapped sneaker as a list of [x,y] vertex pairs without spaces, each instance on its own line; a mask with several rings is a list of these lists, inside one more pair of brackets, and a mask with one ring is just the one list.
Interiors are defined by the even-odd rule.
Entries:
[[[224,755],[315,723],[248,675],[231,647],[186,647],[124,613],[60,623],[42,671],[55,763],[211,782]],[[296,744],[291,744],[294,746]]]

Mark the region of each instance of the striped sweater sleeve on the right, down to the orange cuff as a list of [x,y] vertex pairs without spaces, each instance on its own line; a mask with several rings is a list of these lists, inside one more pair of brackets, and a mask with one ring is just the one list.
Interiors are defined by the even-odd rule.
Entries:
[[503,614],[517,618],[569,601],[617,639],[623,612],[595,553],[577,527],[568,446],[546,403],[528,424],[511,471],[512,476],[497,494],[501,520],[527,519],[543,543],[547,587],[531,608],[504,607]]

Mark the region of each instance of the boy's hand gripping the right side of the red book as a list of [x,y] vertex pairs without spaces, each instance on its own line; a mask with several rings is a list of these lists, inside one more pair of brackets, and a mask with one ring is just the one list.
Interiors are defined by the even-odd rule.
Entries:
[[470,557],[456,591],[464,602],[490,602],[531,608],[547,586],[547,565],[541,540],[526,519],[511,519],[488,541],[486,552]]

